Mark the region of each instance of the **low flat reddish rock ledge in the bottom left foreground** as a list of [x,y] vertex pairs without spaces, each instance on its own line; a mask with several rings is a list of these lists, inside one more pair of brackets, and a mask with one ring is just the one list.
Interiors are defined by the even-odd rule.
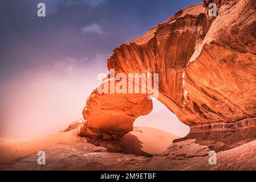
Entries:
[[80,139],[73,144],[58,143],[44,150],[46,165],[38,165],[37,152],[13,163],[0,164],[1,171],[52,171],[52,170],[127,170],[150,158],[135,155],[109,153],[107,149]]

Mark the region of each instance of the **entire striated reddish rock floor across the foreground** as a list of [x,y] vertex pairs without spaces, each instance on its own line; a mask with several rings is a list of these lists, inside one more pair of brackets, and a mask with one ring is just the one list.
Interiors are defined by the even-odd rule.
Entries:
[[230,150],[217,152],[217,164],[210,165],[209,147],[194,139],[170,145],[152,158],[109,153],[107,149],[80,139],[73,144],[58,143],[44,150],[46,165],[38,165],[37,153],[24,156],[0,170],[255,170],[256,140]]

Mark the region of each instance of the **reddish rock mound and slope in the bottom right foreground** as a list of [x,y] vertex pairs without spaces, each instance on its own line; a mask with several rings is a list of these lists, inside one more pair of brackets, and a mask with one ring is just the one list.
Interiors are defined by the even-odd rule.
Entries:
[[217,163],[209,164],[209,148],[189,139],[171,145],[163,154],[132,170],[255,170],[256,140],[217,152]]

